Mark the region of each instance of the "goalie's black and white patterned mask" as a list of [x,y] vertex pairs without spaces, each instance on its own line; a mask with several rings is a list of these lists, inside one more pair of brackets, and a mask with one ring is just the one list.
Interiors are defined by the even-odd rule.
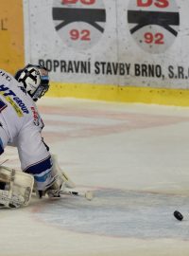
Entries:
[[23,83],[33,101],[38,101],[49,88],[48,71],[42,65],[27,64],[17,71],[15,79]]

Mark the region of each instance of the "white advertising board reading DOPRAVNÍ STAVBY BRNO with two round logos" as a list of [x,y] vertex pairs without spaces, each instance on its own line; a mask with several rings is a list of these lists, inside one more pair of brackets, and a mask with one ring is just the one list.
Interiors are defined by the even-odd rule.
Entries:
[[26,62],[54,82],[189,87],[188,0],[27,0]]

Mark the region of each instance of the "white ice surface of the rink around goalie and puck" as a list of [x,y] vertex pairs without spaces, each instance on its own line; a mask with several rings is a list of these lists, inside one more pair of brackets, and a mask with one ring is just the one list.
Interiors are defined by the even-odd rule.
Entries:
[[[188,256],[189,108],[39,101],[43,137],[94,200],[32,197],[0,210],[0,256]],[[15,149],[1,161],[19,169]],[[173,217],[180,210],[182,222]]]

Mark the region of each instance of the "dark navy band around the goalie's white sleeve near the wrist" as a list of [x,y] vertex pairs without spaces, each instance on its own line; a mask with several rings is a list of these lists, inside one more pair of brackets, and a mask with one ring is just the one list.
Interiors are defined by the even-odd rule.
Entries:
[[24,172],[27,174],[42,174],[43,172],[50,170],[51,168],[52,168],[52,161],[51,161],[51,157],[48,156],[42,161],[28,166]]

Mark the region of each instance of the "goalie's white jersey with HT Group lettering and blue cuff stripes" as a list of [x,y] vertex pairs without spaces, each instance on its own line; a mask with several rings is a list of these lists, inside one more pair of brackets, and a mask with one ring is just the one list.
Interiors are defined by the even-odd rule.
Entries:
[[22,83],[0,69],[0,155],[7,146],[16,146],[21,169],[32,174],[38,190],[53,182],[52,162],[41,131],[43,120]]

